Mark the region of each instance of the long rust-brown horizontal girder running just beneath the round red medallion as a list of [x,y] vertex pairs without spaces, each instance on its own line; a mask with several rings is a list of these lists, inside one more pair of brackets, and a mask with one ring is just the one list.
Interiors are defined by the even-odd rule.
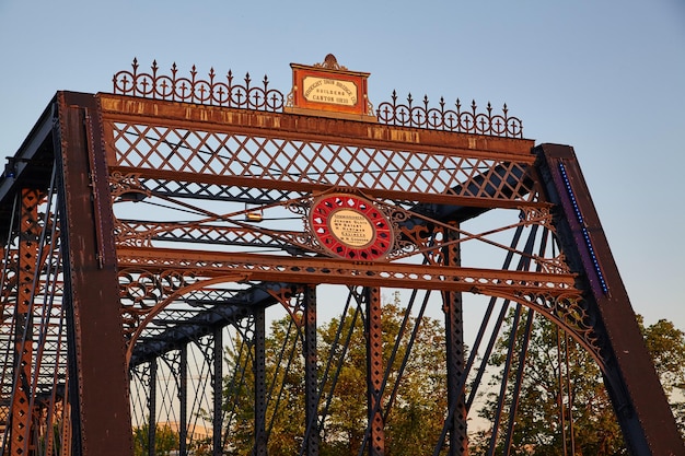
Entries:
[[290,283],[335,283],[464,291],[492,295],[573,296],[576,276],[513,270],[421,266],[398,262],[353,262],[336,258],[211,253],[169,248],[117,249],[119,270],[177,271],[181,276]]

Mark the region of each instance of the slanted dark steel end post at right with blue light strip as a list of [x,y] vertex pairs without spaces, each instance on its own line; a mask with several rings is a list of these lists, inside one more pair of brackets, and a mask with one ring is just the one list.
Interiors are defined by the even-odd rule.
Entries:
[[538,145],[535,153],[549,199],[558,204],[555,225],[564,252],[596,314],[605,385],[626,444],[636,456],[685,454],[576,153],[559,144]]

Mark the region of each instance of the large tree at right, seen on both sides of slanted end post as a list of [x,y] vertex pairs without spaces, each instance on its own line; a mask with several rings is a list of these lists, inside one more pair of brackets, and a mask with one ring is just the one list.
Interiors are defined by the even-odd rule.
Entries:
[[[533,316],[533,313],[526,311],[523,315],[522,319],[525,319],[525,315]],[[510,313],[504,335],[511,331],[513,321],[513,313]],[[682,423],[684,335],[666,320],[660,320],[647,328],[642,326],[641,318],[638,321],[674,413],[680,416]],[[523,342],[524,327],[519,325],[516,328],[518,348]],[[501,336],[497,351],[489,360],[489,364],[497,371],[491,382],[494,387],[502,381],[508,342],[508,336]],[[535,315],[527,343],[525,375],[518,396],[518,413],[511,439],[512,454],[526,454],[526,451],[534,451],[536,455],[627,454],[600,369],[590,353],[539,315]],[[516,366],[510,373],[504,410],[512,405],[515,369]],[[489,390],[486,407],[479,412],[490,421],[497,410],[498,391],[495,388]],[[503,413],[500,430],[507,428],[509,418]],[[503,432],[501,430],[499,435]],[[484,431],[473,443],[489,441],[491,434],[492,429]],[[503,439],[500,437],[497,442],[501,448]],[[473,454],[479,454],[474,449]]]

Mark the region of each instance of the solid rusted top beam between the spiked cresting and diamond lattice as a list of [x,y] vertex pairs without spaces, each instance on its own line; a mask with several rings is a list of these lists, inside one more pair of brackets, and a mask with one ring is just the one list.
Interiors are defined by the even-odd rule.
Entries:
[[491,155],[497,153],[510,159],[533,162],[531,148],[534,141],[494,136],[455,133],[433,129],[393,127],[383,124],[359,122],[353,120],[332,119],[315,116],[293,116],[281,113],[268,113],[251,109],[235,109],[216,106],[189,105],[161,100],[143,100],[123,95],[101,93],[97,95],[103,116],[114,121],[124,122],[136,119],[137,122],[181,126],[183,128],[206,129],[208,125],[221,125],[223,131],[241,131],[249,136],[264,135],[265,131],[279,131],[280,138],[299,141],[346,141],[372,148],[403,145],[446,150],[451,154],[463,151]]

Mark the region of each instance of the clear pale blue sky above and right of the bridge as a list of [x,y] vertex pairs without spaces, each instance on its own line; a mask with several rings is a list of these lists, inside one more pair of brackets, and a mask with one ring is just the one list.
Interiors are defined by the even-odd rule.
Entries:
[[0,0],[0,159],[55,92],[153,59],[268,74],[334,54],[405,96],[507,103],[576,149],[636,312],[685,329],[685,1]]

